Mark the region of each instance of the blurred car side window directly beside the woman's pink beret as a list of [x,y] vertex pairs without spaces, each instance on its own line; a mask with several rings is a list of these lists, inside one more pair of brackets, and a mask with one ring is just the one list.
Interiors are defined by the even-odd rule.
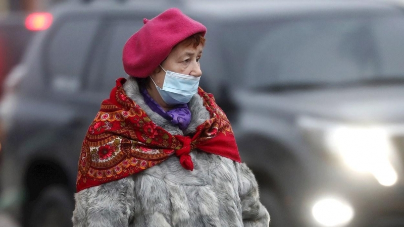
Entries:
[[97,46],[96,55],[91,66],[90,87],[108,90],[115,86],[116,79],[127,77],[122,64],[122,49],[126,41],[143,25],[136,20],[117,19],[105,26],[105,36],[101,45]]

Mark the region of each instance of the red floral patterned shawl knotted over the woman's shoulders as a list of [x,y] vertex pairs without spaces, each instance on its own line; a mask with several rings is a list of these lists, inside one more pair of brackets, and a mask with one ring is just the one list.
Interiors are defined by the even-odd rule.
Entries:
[[139,173],[174,154],[192,171],[189,152],[194,148],[241,161],[230,123],[212,94],[198,88],[211,118],[191,137],[173,136],[126,95],[125,82],[117,80],[87,131],[78,163],[77,192]]

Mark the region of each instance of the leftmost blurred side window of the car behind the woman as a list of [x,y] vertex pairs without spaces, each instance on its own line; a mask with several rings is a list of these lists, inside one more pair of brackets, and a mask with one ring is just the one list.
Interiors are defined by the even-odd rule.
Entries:
[[80,89],[97,25],[96,19],[69,20],[56,31],[47,49],[47,71],[55,90]]

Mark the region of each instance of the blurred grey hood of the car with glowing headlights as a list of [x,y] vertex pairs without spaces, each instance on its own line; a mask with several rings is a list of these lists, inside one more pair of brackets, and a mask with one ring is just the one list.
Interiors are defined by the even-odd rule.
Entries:
[[404,122],[404,85],[323,88],[283,92],[232,90],[248,111],[310,115],[360,123]]

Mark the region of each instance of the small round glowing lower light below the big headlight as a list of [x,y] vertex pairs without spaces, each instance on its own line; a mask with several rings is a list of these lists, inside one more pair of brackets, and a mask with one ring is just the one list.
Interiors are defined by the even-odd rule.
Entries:
[[312,209],[313,217],[325,226],[341,226],[354,217],[354,209],[336,198],[324,198],[316,202]]

